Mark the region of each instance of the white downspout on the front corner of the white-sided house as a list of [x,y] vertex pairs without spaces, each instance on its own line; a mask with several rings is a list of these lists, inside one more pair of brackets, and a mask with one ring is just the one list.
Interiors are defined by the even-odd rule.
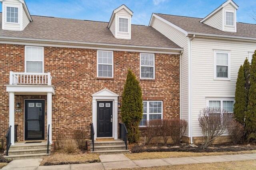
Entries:
[[189,56],[189,114],[190,114],[190,143],[193,144],[193,131],[192,131],[192,40],[196,37],[194,34],[190,39],[190,56]]

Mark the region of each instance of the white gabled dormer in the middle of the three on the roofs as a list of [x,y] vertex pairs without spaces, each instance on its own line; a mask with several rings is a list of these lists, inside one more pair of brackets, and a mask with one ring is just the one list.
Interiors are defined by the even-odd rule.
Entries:
[[133,12],[125,5],[121,5],[113,11],[108,28],[114,37],[131,39],[132,15]]

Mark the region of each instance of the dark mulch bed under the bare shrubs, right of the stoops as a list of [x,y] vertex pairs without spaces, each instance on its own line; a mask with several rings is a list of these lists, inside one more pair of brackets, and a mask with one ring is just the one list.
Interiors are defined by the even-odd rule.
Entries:
[[207,149],[201,150],[200,145],[196,147],[176,146],[176,145],[132,145],[130,146],[132,153],[140,152],[237,152],[242,150],[256,150],[256,145],[234,145],[233,143],[224,143],[212,145]]

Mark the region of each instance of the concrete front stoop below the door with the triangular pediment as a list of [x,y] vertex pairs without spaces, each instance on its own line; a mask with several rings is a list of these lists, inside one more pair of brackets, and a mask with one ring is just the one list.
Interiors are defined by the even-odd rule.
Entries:
[[126,154],[130,150],[125,149],[125,143],[122,140],[114,141],[94,141],[94,151],[92,151],[92,141],[87,141],[88,153],[97,154]]

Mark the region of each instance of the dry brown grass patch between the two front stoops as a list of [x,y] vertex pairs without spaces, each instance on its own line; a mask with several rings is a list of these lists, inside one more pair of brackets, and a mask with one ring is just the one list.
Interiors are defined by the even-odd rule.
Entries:
[[63,164],[82,164],[100,162],[98,154],[88,154],[88,153],[74,153],[66,154],[60,151],[55,152],[53,155],[46,156],[43,158],[40,166],[46,165],[63,165]]

